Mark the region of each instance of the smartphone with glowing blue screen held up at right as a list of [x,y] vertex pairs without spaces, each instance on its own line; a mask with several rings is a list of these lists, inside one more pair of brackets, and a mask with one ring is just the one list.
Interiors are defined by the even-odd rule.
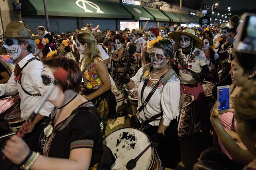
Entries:
[[219,113],[226,113],[229,111],[229,86],[217,87],[217,98],[220,103]]

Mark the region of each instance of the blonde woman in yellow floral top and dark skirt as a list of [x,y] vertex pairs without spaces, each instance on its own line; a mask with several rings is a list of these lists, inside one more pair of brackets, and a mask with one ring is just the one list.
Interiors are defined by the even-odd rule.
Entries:
[[84,86],[81,93],[99,111],[105,133],[108,118],[115,119],[116,116],[115,95],[111,92],[108,69],[92,34],[79,32],[76,34],[76,44],[79,53],[84,55],[81,66]]

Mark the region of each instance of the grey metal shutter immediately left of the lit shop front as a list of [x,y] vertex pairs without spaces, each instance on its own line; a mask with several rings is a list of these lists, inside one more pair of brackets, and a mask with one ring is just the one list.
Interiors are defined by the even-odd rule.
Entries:
[[83,26],[85,26],[87,23],[92,23],[93,28],[99,24],[100,30],[106,30],[109,28],[110,30],[115,31],[116,29],[115,19],[83,19]]

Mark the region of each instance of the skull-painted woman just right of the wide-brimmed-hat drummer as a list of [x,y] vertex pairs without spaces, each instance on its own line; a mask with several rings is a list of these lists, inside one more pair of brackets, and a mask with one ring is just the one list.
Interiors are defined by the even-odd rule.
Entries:
[[222,69],[223,63],[219,55],[211,49],[212,45],[213,40],[208,37],[205,38],[203,40],[202,51],[206,56],[206,62],[210,70],[210,74],[205,77],[205,80],[216,84],[219,82],[218,72]]

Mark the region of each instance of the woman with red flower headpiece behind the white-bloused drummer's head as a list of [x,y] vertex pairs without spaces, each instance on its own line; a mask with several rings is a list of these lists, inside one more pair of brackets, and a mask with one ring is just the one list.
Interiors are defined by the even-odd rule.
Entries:
[[151,31],[148,31],[148,41],[145,43],[143,47],[143,51],[141,54],[142,65],[146,65],[151,62],[149,54],[151,54],[153,48],[149,46],[149,41],[155,40],[159,36],[159,31],[156,28],[152,28]]

